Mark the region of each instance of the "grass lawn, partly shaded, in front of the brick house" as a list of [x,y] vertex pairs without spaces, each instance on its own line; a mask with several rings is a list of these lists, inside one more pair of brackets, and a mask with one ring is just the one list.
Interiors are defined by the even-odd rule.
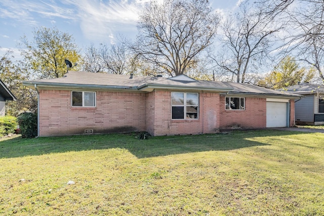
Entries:
[[0,215],[324,215],[324,134],[1,139]]

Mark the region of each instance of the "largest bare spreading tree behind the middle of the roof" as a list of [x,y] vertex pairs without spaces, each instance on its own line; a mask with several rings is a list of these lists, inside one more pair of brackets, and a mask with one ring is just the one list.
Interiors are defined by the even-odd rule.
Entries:
[[218,23],[207,0],[150,2],[140,14],[132,49],[157,72],[185,74],[212,45]]

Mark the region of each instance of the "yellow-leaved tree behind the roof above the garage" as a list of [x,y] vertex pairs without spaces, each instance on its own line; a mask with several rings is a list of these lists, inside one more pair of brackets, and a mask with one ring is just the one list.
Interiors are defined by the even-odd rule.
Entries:
[[264,79],[258,82],[268,89],[283,89],[299,82],[309,82],[314,77],[314,69],[300,68],[296,59],[287,56]]

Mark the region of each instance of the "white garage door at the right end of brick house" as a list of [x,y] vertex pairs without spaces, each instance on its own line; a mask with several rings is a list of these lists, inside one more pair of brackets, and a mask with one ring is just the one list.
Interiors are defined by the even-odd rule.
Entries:
[[267,102],[267,127],[287,126],[287,103]]

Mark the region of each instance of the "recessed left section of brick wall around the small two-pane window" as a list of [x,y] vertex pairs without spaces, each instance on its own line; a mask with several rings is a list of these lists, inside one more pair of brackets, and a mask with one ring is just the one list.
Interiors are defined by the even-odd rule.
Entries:
[[145,93],[96,92],[96,107],[71,107],[71,91],[39,91],[39,136],[145,131]]

